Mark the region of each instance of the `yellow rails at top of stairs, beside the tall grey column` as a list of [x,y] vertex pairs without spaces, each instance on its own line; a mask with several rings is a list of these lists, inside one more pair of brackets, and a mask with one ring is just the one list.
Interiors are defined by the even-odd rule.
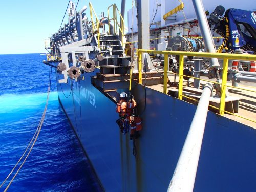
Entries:
[[[110,18],[110,8],[112,8],[113,11],[113,17]],[[117,13],[119,14],[120,18],[121,18],[121,24],[118,23],[117,20]],[[108,20],[109,20],[109,32],[110,32],[110,22],[111,20],[113,20],[113,26],[114,26],[114,33],[117,34],[118,28],[119,31],[122,33],[122,37],[124,36],[124,19],[119,11],[119,9],[117,8],[116,4],[112,4],[108,7]],[[121,42],[123,42],[123,38],[120,39]]]

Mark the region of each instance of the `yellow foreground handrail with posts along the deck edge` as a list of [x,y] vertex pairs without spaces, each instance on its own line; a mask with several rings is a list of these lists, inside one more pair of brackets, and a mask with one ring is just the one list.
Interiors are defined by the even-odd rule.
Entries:
[[[228,54],[228,53],[199,53],[199,52],[184,52],[184,51],[154,51],[154,50],[142,50],[139,49],[138,51],[138,72],[139,72],[139,84],[142,84],[142,53],[154,53],[154,54],[163,54],[164,55],[164,84],[163,84],[163,93],[167,94],[167,81],[168,81],[168,55],[179,55],[180,56],[180,66],[179,66],[179,88],[178,88],[178,98],[182,99],[182,97],[186,97],[182,95],[183,90],[183,65],[184,65],[184,56],[196,56],[196,57],[207,57],[207,58],[222,58],[223,59],[223,70],[222,70],[222,82],[221,82],[221,100],[220,100],[220,108],[219,113],[220,115],[224,115],[224,113],[232,114],[238,117],[241,117],[243,119],[250,120],[252,122],[256,122],[255,120],[248,119],[246,117],[239,116],[234,113],[230,113],[225,111],[225,96],[226,96],[226,89],[227,87],[232,87],[236,89],[251,91],[253,93],[256,93],[254,90],[244,89],[244,88],[238,88],[227,85],[227,73],[228,73],[228,60],[256,60],[256,55],[249,55],[249,54]],[[190,77],[190,76],[186,76]],[[196,77],[190,77],[194,79],[200,79]],[[215,84],[220,84],[218,82],[213,82],[205,79],[200,79],[207,82],[212,82]],[[216,108],[216,107],[214,107]]]

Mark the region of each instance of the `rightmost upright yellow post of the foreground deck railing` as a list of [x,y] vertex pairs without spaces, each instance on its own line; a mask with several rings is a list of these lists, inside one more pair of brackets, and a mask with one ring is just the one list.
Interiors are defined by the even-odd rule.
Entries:
[[228,58],[223,60],[222,69],[222,83],[221,83],[221,103],[220,103],[220,114],[224,115],[225,110],[225,98],[226,98],[226,84],[227,84],[227,68],[228,68]]

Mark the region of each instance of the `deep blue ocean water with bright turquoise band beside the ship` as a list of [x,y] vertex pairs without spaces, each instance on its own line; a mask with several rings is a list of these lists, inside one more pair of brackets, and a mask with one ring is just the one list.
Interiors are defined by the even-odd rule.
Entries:
[[[0,185],[24,153],[44,111],[49,66],[43,59],[40,54],[0,55]],[[101,191],[56,90],[52,70],[44,125],[8,191]]]

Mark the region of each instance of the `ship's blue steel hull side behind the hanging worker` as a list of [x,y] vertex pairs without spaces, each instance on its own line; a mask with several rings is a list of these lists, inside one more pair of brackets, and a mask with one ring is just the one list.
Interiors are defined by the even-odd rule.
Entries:
[[[63,110],[102,188],[166,191],[196,106],[138,84],[132,91],[143,130],[135,158],[132,141],[116,124],[116,104],[91,84],[96,72],[99,69],[84,80],[57,87]],[[255,129],[208,111],[194,191],[254,191],[255,136]]]

